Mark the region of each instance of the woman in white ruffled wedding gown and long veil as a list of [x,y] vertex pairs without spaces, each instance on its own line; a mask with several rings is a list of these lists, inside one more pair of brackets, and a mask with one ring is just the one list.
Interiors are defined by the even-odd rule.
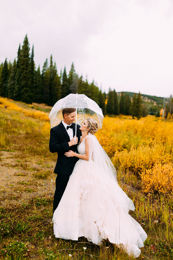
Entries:
[[138,257],[147,235],[128,214],[135,207],[118,185],[116,170],[94,135],[98,124],[89,117],[80,130],[78,153],[65,153],[79,160],[54,211],[54,235],[72,240],[84,236],[97,245],[108,238],[128,255]]

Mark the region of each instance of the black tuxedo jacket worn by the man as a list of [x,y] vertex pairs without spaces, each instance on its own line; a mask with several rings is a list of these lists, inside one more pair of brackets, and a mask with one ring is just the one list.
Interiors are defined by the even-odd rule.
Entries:
[[[75,123],[72,123],[72,126],[74,137]],[[80,136],[82,135],[79,128],[80,125],[77,125],[76,137],[78,137],[78,144],[80,142]],[[58,154],[57,164],[54,169],[54,173],[56,174],[71,175],[74,165],[76,164],[76,161],[78,161],[76,156],[67,157],[64,155],[64,153],[68,152],[69,150],[78,153],[78,144],[69,147],[68,142],[70,142],[70,138],[62,121],[59,125],[50,129],[49,150],[51,153]]]

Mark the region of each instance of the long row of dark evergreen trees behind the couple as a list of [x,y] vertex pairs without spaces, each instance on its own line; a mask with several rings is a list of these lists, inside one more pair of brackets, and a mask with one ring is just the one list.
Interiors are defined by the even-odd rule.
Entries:
[[23,45],[18,48],[17,59],[14,62],[7,62],[0,65],[0,96],[22,101],[25,103],[45,103],[53,106],[59,99],[70,93],[85,94],[93,99],[103,110],[103,114],[132,115],[140,119],[147,116],[148,109],[141,99],[141,94],[129,94],[121,92],[117,95],[115,90],[109,90],[108,94],[99,90],[96,83],[89,83],[83,76],[80,77],[75,71],[72,63],[69,74],[66,68],[58,73],[56,63],[52,55],[50,62],[45,60],[42,71],[40,65],[35,68],[34,47],[30,54],[30,47],[27,35]]

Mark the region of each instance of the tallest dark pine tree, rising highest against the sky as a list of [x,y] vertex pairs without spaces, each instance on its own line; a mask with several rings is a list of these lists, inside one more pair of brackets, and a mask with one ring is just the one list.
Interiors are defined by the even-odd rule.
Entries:
[[31,70],[30,70],[30,57],[29,57],[29,42],[27,35],[23,41],[22,49],[20,52],[20,85],[21,85],[21,101],[32,104],[33,92],[31,90]]

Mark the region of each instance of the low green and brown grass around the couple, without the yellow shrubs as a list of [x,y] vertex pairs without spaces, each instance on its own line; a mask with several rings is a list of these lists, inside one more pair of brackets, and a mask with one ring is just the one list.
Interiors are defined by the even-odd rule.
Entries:
[[[54,237],[57,154],[49,152],[49,133],[42,133],[43,125],[0,109],[0,259],[133,259],[109,241],[96,246],[84,237],[78,241]],[[131,216],[148,235],[138,259],[173,259],[173,195],[146,196],[140,191],[139,177],[119,171],[117,176],[135,204]]]

